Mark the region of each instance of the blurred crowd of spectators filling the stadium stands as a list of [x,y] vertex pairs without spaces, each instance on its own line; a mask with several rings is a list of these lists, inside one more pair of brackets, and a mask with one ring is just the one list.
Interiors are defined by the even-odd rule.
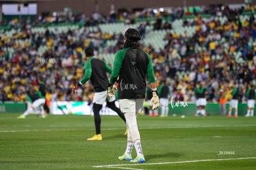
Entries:
[[[242,12],[253,12],[254,5],[247,5],[239,9],[229,9],[228,6],[218,7],[203,11],[184,12],[182,9],[174,9],[171,14],[166,12],[141,12],[140,14],[123,13],[117,18],[111,14],[108,17],[96,17],[92,15],[85,17],[69,16],[69,22],[85,22],[84,31],[69,30],[61,33],[58,30],[45,33],[33,33],[32,28],[35,24],[44,22],[56,22],[52,17],[40,18],[33,22],[14,22],[19,31],[7,36],[5,32],[0,34],[0,101],[24,102],[25,95],[36,91],[36,77],[42,75],[46,81],[47,95],[49,100],[92,100],[93,87],[87,83],[72,95],[71,88],[78,83],[83,76],[83,49],[94,47],[95,57],[101,53],[116,52],[122,48],[122,34],[103,34],[100,28],[90,31],[88,26],[95,26],[99,23],[116,22],[119,19],[124,22],[133,23],[136,17],[153,17],[154,23],[142,22],[138,30],[142,37],[147,36],[147,25],[153,24],[153,30],[172,28],[172,22],[185,15],[193,17],[192,22],[184,19],[184,26],[195,25],[197,31],[192,37],[168,32],[164,37],[168,40],[166,46],[161,49],[154,49],[153,46],[141,47],[151,55],[154,63],[156,79],[158,83],[167,79],[171,93],[174,97],[182,97],[186,101],[195,101],[195,84],[203,81],[208,88],[208,102],[218,102],[220,89],[227,93],[231,99],[229,84],[236,82],[239,87],[240,102],[245,101],[245,92],[249,84],[256,85],[256,24],[252,13],[249,20],[242,21]],[[203,20],[202,14],[215,16],[226,16],[228,21],[221,24],[219,20]],[[163,22],[163,16],[169,20]],[[170,17],[171,16],[171,17]],[[97,19],[96,19],[97,18]],[[15,25],[17,24],[17,25]],[[18,28],[17,28],[18,30]],[[90,39],[95,41],[90,41]],[[223,41],[224,38],[224,41]],[[30,39],[30,41],[25,41]],[[78,39],[78,41],[74,41]],[[117,39],[117,44],[106,48],[108,39]],[[20,40],[17,43],[17,40]],[[47,51],[40,55],[38,48],[41,44],[47,46]],[[12,47],[14,52],[8,50]],[[99,52],[98,49],[103,49]],[[75,51],[75,52],[74,52]],[[234,52],[241,52],[242,62],[236,62]],[[220,59],[216,59],[216,56]],[[178,57],[180,56],[180,57]]]

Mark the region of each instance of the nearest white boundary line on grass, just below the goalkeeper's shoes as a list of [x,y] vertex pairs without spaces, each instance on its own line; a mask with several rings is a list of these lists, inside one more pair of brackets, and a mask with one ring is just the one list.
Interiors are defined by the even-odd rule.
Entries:
[[93,168],[117,168],[117,169],[132,169],[132,170],[145,170],[137,168],[124,168],[122,166],[143,166],[143,165],[154,165],[154,164],[177,164],[177,163],[197,163],[197,162],[207,162],[207,161],[228,161],[228,160],[250,160],[256,159],[256,157],[248,158],[226,158],[226,159],[211,159],[211,160],[192,160],[192,161],[177,161],[177,162],[167,162],[167,163],[140,163],[140,164],[108,164],[108,165],[99,165],[92,166]]

